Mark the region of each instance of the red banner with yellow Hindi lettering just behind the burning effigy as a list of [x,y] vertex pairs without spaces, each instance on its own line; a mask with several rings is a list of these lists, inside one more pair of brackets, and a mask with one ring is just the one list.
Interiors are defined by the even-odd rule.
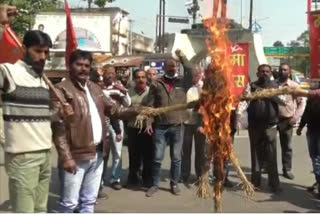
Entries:
[[233,95],[240,96],[249,82],[249,44],[238,43],[231,46],[234,78]]

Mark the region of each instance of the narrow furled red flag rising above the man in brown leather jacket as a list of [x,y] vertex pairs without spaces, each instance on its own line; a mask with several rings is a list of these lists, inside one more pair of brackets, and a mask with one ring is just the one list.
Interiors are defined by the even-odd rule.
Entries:
[[66,38],[66,67],[69,67],[70,55],[78,47],[76,33],[73,28],[71,13],[67,0],[64,1],[67,16],[67,38]]

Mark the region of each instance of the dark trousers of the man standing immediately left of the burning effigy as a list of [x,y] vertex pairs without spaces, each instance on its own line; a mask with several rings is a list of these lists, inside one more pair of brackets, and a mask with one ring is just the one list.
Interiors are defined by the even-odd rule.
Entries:
[[184,137],[182,146],[182,163],[181,163],[181,178],[183,181],[188,181],[191,170],[191,152],[194,139],[195,161],[194,168],[196,175],[199,178],[202,174],[201,168],[204,163],[204,145],[206,137],[197,131],[197,125],[184,125]]

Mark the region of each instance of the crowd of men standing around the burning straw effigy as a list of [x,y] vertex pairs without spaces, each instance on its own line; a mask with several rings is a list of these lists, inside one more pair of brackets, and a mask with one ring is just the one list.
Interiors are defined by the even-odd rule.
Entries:
[[[0,5],[0,26],[10,23],[16,8]],[[170,147],[170,190],[180,195],[179,182],[196,182],[206,164],[206,137],[198,107],[188,111],[165,113],[154,118],[152,128],[141,132],[135,117],[150,107],[165,107],[197,100],[201,95],[205,72],[191,65],[182,51],[178,60],[165,61],[165,74],[156,70],[136,70],[132,82],[121,82],[112,66],[93,68],[91,53],[75,50],[69,59],[69,77],[55,87],[58,97],[50,95],[43,81],[43,70],[52,46],[42,31],[28,31],[23,38],[24,59],[0,65],[5,142],[5,166],[9,176],[13,212],[46,212],[51,178],[51,145],[59,156],[61,198],[59,212],[94,212],[98,197],[107,198],[104,185],[122,188],[122,146],[128,135],[129,175],[127,188],[142,185],[146,196],[159,191],[162,161]],[[177,61],[183,76],[177,73]],[[258,80],[245,93],[266,88],[298,87],[291,80],[291,68],[282,64],[279,77],[272,78],[269,65],[257,69]],[[308,97],[305,100],[300,96]],[[316,182],[320,182],[319,140],[320,91],[297,91],[293,95],[241,102],[231,117],[232,134],[241,114],[248,114],[251,148],[251,181],[261,185],[261,174],[268,173],[274,193],[281,191],[276,141],[280,135],[283,175],[294,179],[292,169],[293,127],[297,134],[308,126],[307,138]],[[305,109],[305,110],[304,110]],[[299,123],[299,120],[301,122]],[[234,122],[236,121],[236,122]],[[191,149],[195,142],[196,180],[190,176]],[[111,178],[107,162],[112,154]],[[227,163],[226,163],[227,164]],[[228,168],[228,167],[227,167]],[[225,186],[232,187],[227,178]],[[320,187],[320,185],[318,185]]]

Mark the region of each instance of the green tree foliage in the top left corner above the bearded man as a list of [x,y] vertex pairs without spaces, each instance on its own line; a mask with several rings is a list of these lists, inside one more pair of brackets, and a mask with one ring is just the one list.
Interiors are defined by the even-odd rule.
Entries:
[[11,28],[23,37],[27,30],[31,30],[36,14],[55,9],[57,0],[0,0],[0,4],[19,8],[21,15],[11,24]]

